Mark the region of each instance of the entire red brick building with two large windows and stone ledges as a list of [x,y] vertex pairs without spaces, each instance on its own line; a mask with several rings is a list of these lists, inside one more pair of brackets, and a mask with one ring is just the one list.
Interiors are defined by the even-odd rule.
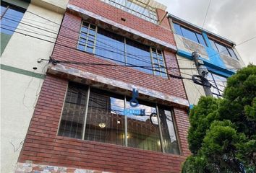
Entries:
[[69,1],[17,172],[181,171],[189,102],[165,10]]

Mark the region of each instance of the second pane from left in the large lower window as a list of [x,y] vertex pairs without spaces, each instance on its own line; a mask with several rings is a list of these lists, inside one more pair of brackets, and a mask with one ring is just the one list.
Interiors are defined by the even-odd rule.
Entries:
[[91,89],[85,140],[124,146],[124,97]]

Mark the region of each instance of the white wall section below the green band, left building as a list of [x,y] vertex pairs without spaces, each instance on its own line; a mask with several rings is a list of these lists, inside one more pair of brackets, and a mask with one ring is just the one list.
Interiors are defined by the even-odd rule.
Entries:
[[1,70],[1,172],[14,172],[42,83]]

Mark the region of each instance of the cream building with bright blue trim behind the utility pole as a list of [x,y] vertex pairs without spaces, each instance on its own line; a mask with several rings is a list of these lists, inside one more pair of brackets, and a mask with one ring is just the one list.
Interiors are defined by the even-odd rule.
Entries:
[[[222,97],[226,86],[226,79],[244,66],[242,58],[235,49],[235,43],[224,37],[202,30],[189,22],[168,15],[171,29],[177,46],[176,58],[179,63],[179,71],[185,78],[192,78],[198,71],[192,53],[200,56],[201,68],[208,72],[213,97]],[[173,69],[175,70],[175,69]],[[201,96],[205,96],[202,86],[193,81],[183,79],[190,105],[196,105]]]

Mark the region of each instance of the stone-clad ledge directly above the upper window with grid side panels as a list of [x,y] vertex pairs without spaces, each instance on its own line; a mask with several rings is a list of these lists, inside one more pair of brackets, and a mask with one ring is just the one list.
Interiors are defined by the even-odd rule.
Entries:
[[[110,25],[111,28],[115,32],[117,32],[117,33],[121,32],[121,35],[124,35],[124,31],[125,31],[127,33],[125,33],[126,35],[124,35],[124,36],[130,37],[130,38],[133,38],[133,37],[137,38],[135,40],[140,40],[140,42],[142,42],[142,43],[145,43],[145,44],[148,43],[148,45],[153,45],[156,48],[163,48],[163,49],[171,50],[172,52],[176,52],[176,50],[177,50],[175,45],[171,45],[170,43],[166,43],[165,41],[159,40],[155,37],[151,37],[150,35],[146,35],[140,31],[134,30],[130,27],[116,23],[111,19],[107,19],[106,17],[102,17],[93,12],[89,12],[88,10],[82,9],[78,6],[74,6],[72,4],[67,4],[67,10],[69,12],[71,12],[72,14],[76,14],[76,15],[82,17],[83,19],[88,19],[89,17],[92,17],[94,19],[94,22],[98,25]],[[95,19],[96,19],[96,21],[95,21]],[[121,30],[121,31],[118,31],[118,30]],[[170,32],[170,35],[171,35],[171,32]]]

